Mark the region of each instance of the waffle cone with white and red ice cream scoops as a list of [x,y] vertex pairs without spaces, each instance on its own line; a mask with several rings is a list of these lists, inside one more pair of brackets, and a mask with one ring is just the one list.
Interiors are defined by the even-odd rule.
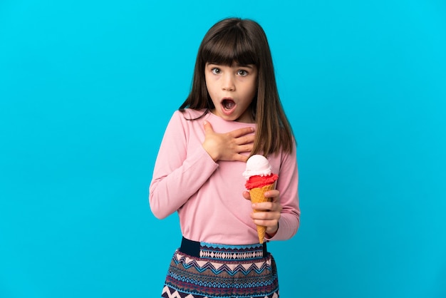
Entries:
[[[245,187],[249,190],[251,202],[271,202],[270,197],[265,197],[265,192],[274,190],[276,187],[276,180],[279,175],[271,173],[271,165],[263,155],[252,155],[247,160],[247,166],[242,173],[247,180]],[[259,212],[260,210],[254,210]],[[257,225],[257,235],[259,242],[264,242],[266,227]]]

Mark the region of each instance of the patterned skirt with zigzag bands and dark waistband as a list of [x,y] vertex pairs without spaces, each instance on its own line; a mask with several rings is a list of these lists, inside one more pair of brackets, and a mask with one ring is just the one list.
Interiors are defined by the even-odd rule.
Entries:
[[266,244],[216,245],[183,238],[161,297],[277,298],[276,263]]

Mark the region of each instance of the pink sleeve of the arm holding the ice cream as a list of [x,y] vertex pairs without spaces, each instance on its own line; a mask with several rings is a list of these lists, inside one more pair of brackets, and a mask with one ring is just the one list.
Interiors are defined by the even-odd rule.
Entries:
[[276,185],[276,189],[280,192],[279,197],[283,208],[279,219],[279,230],[274,237],[265,237],[266,240],[288,240],[296,234],[301,215],[298,187],[299,173],[296,146],[294,146],[291,154],[283,155]]

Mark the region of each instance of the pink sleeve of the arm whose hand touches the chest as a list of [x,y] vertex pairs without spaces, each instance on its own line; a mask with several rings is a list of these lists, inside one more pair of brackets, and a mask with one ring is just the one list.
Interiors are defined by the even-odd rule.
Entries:
[[150,209],[160,219],[184,205],[218,168],[201,144],[188,148],[190,122],[176,111],[162,138],[149,187]]

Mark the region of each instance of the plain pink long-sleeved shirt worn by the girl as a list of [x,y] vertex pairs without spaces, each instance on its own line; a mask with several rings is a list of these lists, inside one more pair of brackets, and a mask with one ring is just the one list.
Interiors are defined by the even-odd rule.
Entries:
[[[204,120],[216,133],[227,133],[254,123],[227,121],[212,113],[197,120],[204,111],[175,111],[165,130],[149,188],[150,208],[157,218],[177,211],[182,235],[190,240],[224,245],[258,243],[252,221],[251,202],[245,200],[242,173],[246,163],[214,162],[202,147]],[[248,154],[248,153],[247,153]],[[273,173],[279,175],[276,189],[283,206],[276,235],[266,240],[286,240],[299,227],[299,195],[296,148],[293,153],[268,157]]]

